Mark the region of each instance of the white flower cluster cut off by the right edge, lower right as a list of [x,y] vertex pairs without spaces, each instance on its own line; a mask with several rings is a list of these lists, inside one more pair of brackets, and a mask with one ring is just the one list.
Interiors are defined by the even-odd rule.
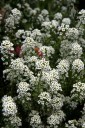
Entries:
[[85,83],[78,82],[73,84],[71,99],[79,102],[82,102],[85,99]]

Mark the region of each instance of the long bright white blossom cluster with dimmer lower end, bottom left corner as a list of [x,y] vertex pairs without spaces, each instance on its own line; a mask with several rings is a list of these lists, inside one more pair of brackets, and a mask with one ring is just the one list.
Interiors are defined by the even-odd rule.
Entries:
[[8,117],[5,121],[10,122],[10,125],[14,128],[19,128],[22,123],[21,119],[17,116],[18,110],[16,103],[11,96],[4,95],[2,98],[2,111],[5,117]]

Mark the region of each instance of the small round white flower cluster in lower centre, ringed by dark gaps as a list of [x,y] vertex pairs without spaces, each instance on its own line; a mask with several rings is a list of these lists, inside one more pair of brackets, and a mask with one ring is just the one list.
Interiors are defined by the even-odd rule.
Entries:
[[38,100],[38,104],[41,105],[47,105],[51,102],[51,95],[48,92],[41,92],[41,94],[38,96],[39,100]]

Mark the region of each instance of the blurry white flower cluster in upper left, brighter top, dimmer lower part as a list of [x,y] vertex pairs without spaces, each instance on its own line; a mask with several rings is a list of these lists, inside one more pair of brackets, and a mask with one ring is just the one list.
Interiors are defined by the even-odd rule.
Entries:
[[6,24],[5,24],[6,31],[15,29],[16,28],[15,25],[19,24],[19,21],[22,16],[21,12],[17,8],[11,10],[11,13],[12,14],[10,14],[9,17],[6,19]]

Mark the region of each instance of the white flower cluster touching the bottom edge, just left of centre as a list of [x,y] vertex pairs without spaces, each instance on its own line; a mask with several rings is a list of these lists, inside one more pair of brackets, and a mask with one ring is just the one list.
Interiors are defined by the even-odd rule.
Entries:
[[41,117],[37,111],[32,110],[29,116],[31,117],[30,125],[32,126],[32,128],[42,128]]

